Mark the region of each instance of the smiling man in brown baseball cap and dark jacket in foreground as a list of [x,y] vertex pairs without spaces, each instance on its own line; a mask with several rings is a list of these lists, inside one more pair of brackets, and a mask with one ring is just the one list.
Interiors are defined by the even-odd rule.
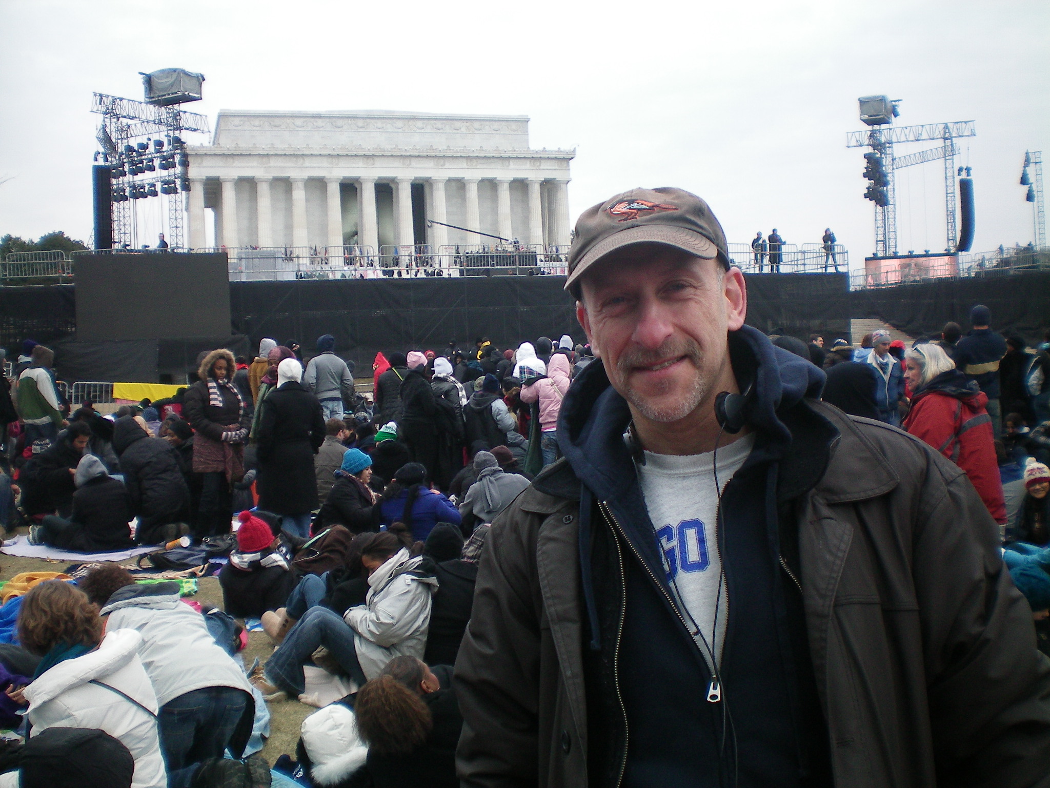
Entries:
[[744,325],[726,252],[676,188],[576,224],[601,364],[562,402],[564,459],[487,537],[462,784],[1045,779],[1050,662],[995,522],[938,452],[821,402],[823,373]]

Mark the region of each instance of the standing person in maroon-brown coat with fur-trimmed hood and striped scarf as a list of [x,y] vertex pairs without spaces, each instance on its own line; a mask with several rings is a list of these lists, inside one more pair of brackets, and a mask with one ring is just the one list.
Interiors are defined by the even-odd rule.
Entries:
[[213,350],[201,361],[201,378],[186,392],[183,412],[193,428],[193,473],[201,474],[201,502],[193,534],[230,533],[234,482],[245,475],[245,441],[251,417],[233,385],[233,354]]

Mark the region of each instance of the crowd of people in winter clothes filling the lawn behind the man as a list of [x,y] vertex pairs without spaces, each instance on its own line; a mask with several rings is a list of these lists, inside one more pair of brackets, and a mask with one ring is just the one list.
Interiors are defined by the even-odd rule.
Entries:
[[[856,349],[820,334],[769,338],[806,374],[824,370],[825,402],[958,465],[1001,526],[1050,655],[1050,334],[1030,349],[996,334],[986,307],[970,317],[965,335],[948,324],[910,348],[887,331]],[[33,587],[16,655],[32,675],[7,697],[44,742],[35,747],[58,728],[102,731],[94,745],[112,750],[116,775],[106,785],[223,785],[230,769],[252,779],[267,765],[237,759],[256,704],[316,702],[306,668],[320,667],[353,691],[303,723],[288,774],[346,788],[458,785],[452,665],[490,523],[563,455],[562,403],[595,357],[568,335],[378,354],[370,396],[332,335],[316,348],[306,364],[294,341],[264,338],[251,361],[217,349],[170,400],[103,414],[89,401],[70,413],[52,354],[26,343],[0,387],[10,472],[0,522],[67,551],[188,537],[181,546],[226,559],[222,610],[195,611],[175,584],[136,583],[117,564]],[[647,473],[673,478],[657,456]],[[248,619],[275,647],[250,675],[236,659]],[[9,658],[0,652],[16,673]],[[17,784],[10,773],[0,786]]]

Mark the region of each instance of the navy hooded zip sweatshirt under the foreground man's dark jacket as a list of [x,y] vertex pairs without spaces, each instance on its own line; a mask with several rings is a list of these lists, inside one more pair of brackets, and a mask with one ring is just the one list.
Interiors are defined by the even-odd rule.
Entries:
[[[730,351],[740,389],[753,382],[744,413],[755,444],[721,501],[729,618],[718,703],[707,700],[711,671],[668,587],[623,437],[627,402],[595,364],[574,381],[562,408],[559,443],[581,482],[594,785],[616,785],[625,748],[623,786],[831,785],[801,592],[797,574],[780,558],[780,521],[791,519],[784,516],[790,506],[778,499],[779,460],[796,432],[785,419],[811,427],[817,419],[810,437],[824,444],[834,439],[834,428],[801,405],[819,396],[824,375],[747,326],[731,332]],[[823,466],[810,469],[814,483],[822,473]],[[626,737],[616,723],[625,714]]]

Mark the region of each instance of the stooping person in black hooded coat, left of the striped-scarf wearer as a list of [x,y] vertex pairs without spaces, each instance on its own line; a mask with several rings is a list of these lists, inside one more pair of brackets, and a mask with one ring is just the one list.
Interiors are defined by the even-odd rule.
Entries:
[[122,416],[113,428],[113,449],[121,459],[131,512],[139,516],[135,539],[156,544],[180,536],[174,523],[187,523],[190,491],[171,444],[152,438],[141,416]]

